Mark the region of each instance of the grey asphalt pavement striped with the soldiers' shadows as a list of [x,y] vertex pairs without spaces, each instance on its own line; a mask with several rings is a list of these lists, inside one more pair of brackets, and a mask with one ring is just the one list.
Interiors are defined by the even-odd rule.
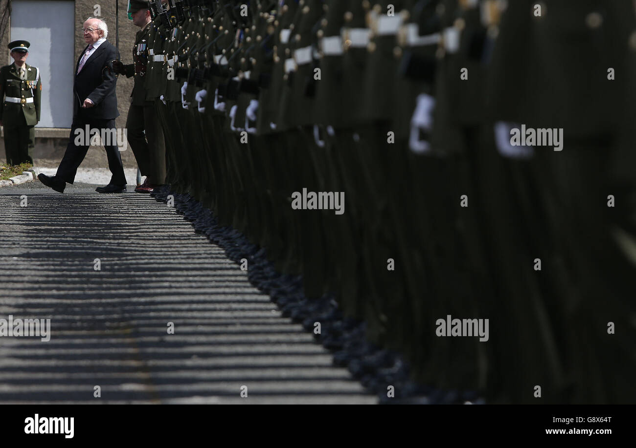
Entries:
[[0,189],[0,334],[50,318],[0,337],[0,403],[377,402],[173,207],[95,186]]

